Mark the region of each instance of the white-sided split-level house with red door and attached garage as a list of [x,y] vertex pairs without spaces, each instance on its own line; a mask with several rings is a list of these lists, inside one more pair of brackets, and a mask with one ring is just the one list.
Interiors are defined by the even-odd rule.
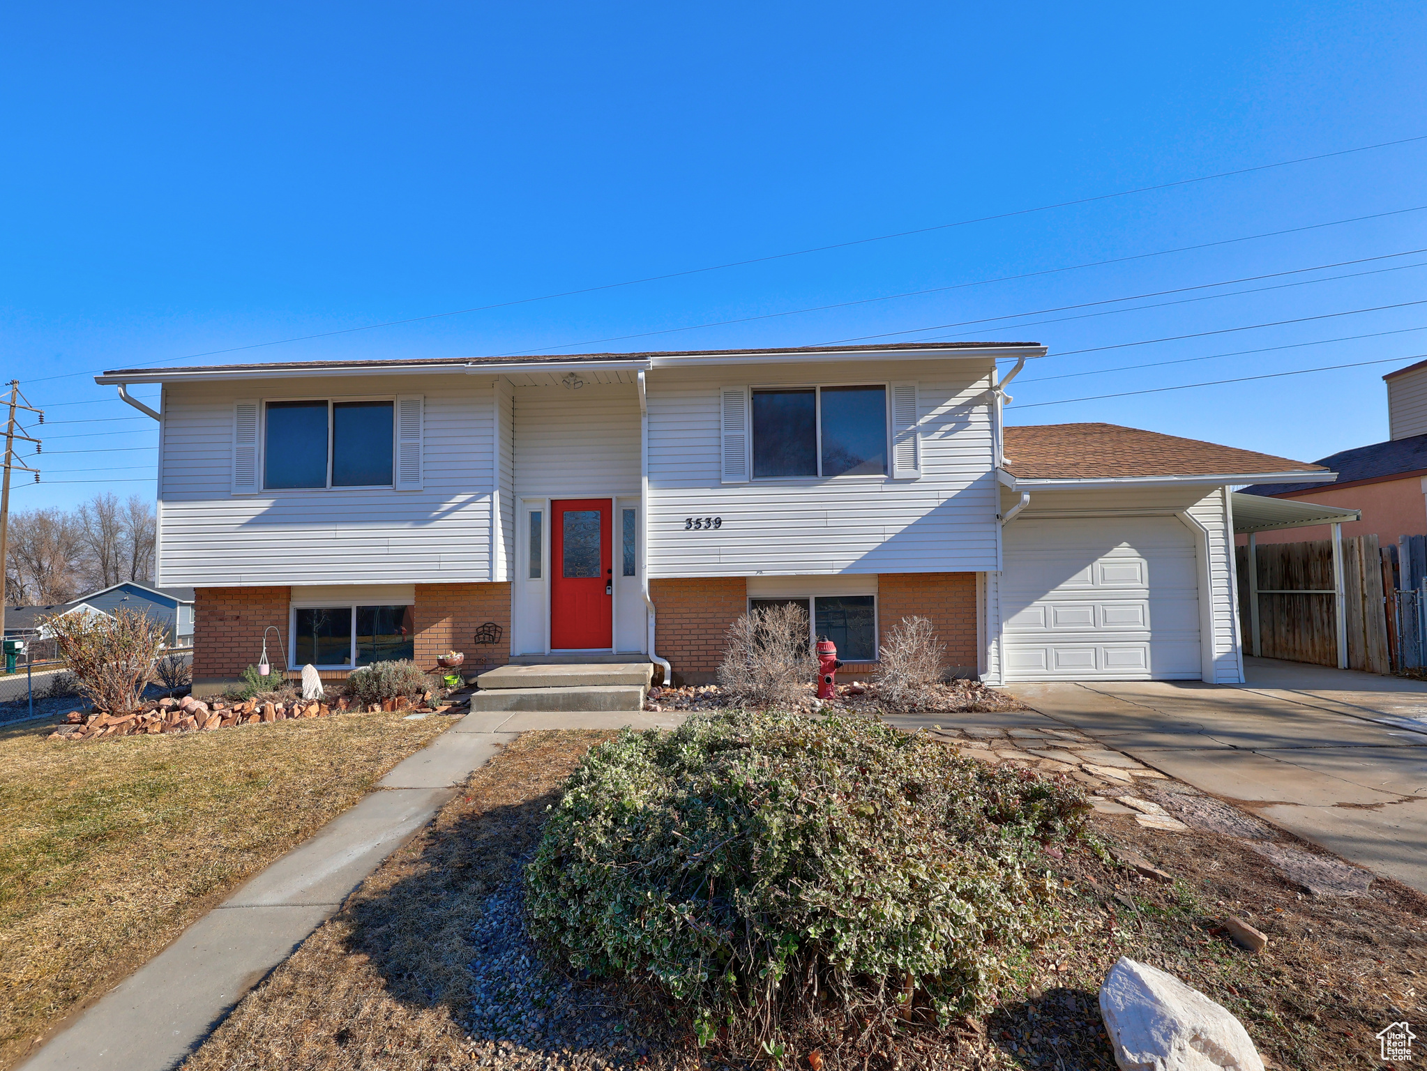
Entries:
[[[923,615],[948,663],[990,682],[1241,680],[1227,488],[1333,473],[1114,425],[1003,444],[996,358],[1043,354],[327,361],[97,382],[163,385],[157,576],[194,588],[200,690],[264,643],[274,666],[328,677],[454,647],[652,657],[706,682],[729,623],[788,599],[845,676]],[[499,640],[477,647],[488,622]]]

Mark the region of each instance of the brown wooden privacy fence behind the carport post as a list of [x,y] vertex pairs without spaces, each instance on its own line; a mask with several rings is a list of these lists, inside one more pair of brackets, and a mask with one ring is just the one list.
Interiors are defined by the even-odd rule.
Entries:
[[[1249,583],[1249,548],[1236,548],[1239,566],[1239,616],[1244,652],[1253,649],[1253,585]],[[1333,578],[1333,540],[1260,543],[1259,655],[1266,659],[1339,665],[1337,595]],[[1391,582],[1388,580],[1388,590]],[[1347,632],[1347,667],[1391,673],[1388,626],[1383,598],[1383,555],[1377,536],[1343,539],[1343,606]]]

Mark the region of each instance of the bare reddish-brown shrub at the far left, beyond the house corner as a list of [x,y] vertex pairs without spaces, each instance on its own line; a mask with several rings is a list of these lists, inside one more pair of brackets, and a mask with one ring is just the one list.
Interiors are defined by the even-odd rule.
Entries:
[[51,633],[78,690],[100,710],[128,713],[138,707],[154,679],[154,659],[164,649],[163,623],[141,610],[67,613],[41,622]]

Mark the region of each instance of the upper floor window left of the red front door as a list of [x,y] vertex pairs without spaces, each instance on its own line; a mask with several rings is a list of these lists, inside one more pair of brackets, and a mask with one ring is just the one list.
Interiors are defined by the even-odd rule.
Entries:
[[265,488],[391,486],[394,402],[268,402],[265,408]]

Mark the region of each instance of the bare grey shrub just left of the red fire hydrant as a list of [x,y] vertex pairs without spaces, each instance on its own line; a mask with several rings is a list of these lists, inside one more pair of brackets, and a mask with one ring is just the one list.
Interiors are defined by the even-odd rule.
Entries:
[[736,703],[792,706],[818,673],[801,603],[756,606],[729,626],[723,642],[718,683]]

